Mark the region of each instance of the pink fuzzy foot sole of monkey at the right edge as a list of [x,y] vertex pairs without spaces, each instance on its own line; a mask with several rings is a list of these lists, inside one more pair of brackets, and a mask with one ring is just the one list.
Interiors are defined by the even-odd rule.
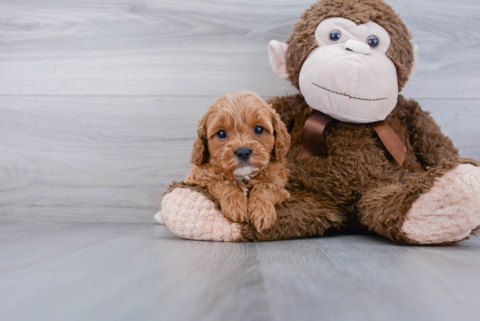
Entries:
[[443,244],[463,240],[479,225],[480,168],[461,164],[412,204],[402,231],[420,244]]

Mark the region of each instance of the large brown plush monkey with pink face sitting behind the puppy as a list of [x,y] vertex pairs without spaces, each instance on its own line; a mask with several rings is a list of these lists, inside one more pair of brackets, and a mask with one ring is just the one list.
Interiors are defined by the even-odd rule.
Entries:
[[276,206],[275,226],[229,222],[205,189],[174,182],[162,202],[170,230],[215,241],[328,229],[407,244],[467,238],[480,225],[480,163],[459,157],[429,113],[398,95],[415,69],[410,38],[381,0],[314,3],[286,44],[269,46],[274,71],[301,92],[270,100],[291,135],[291,197]]

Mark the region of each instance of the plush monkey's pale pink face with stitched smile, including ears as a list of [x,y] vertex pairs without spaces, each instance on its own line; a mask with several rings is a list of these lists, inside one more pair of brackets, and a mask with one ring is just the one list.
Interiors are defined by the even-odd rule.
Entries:
[[[387,56],[388,32],[374,22],[357,25],[336,17],[317,25],[317,47],[301,66],[298,85],[307,103],[337,120],[350,123],[382,121],[398,98],[396,66]],[[270,63],[280,76],[286,70],[287,44],[272,41]],[[417,47],[413,56],[416,58]],[[415,59],[416,60],[416,59]],[[412,64],[410,76],[415,70]]]

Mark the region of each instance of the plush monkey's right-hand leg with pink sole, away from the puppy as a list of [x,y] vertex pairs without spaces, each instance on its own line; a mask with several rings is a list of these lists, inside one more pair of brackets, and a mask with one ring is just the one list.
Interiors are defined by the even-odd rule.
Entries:
[[401,243],[461,241],[480,225],[478,165],[473,160],[450,158],[406,177],[403,184],[378,185],[362,195],[360,221]]

